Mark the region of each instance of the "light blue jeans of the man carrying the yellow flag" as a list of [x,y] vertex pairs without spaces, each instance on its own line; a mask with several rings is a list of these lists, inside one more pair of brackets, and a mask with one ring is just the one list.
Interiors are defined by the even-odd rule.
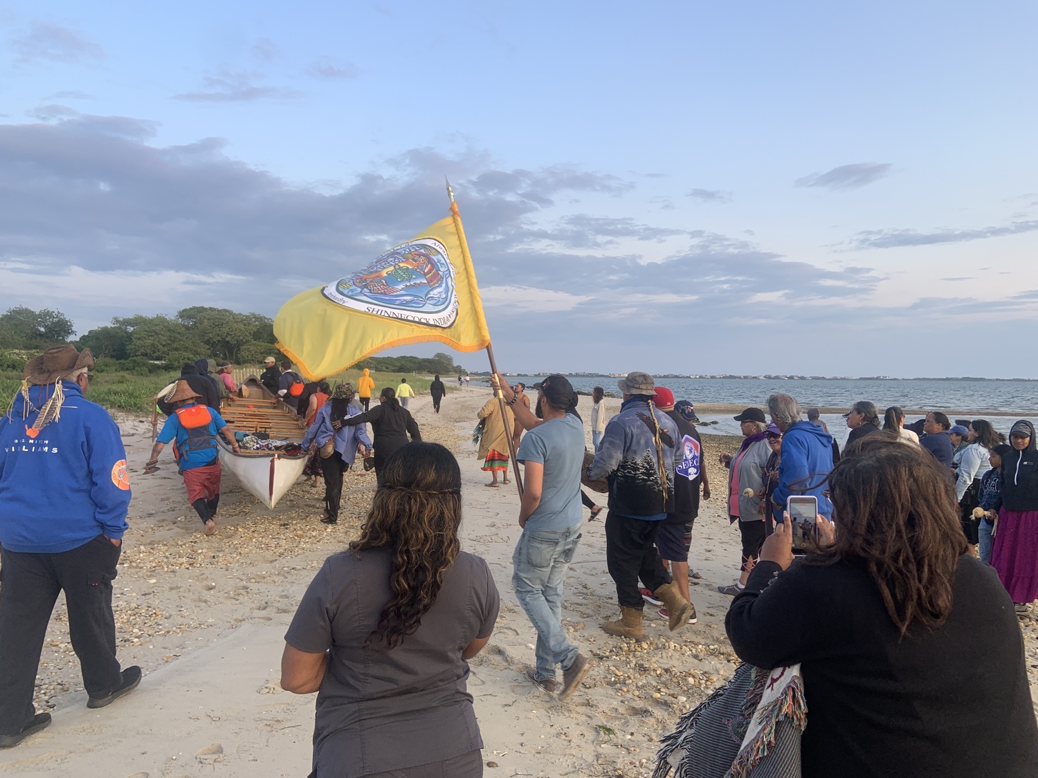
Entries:
[[537,677],[554,678],[555,665],[567,669],[578,648],[563,629],[563,581],[580,543],[580,525],[564,530],[523,530],[512,554],[512,585],[519,605],[537,630]]

